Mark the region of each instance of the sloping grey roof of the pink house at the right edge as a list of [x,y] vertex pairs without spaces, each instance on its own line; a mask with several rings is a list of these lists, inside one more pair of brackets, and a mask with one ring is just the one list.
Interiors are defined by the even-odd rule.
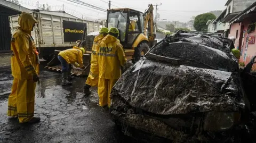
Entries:
[[254,11],[256,11],[256,2],[254,2],[249,7],[247,7],[244,11],[240,12],[239,14],[237,14],[233,19],[231,19],[229,21],[229,23],[240,22],[240,21],[242,21],[244,19],[245,15],[250,14],[251,12],[254,12]]

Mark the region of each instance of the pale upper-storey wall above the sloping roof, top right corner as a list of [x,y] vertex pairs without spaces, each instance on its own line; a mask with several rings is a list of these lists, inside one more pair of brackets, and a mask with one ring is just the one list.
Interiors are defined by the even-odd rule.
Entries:
[[249,7],[251,4],[256,2],[256,0],[233,0],[233,9],[232,12],[241,12]]

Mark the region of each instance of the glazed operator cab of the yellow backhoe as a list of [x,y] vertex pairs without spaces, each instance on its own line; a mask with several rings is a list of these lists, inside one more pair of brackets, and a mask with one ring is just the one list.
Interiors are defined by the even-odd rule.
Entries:
[[117,28],[124,49],[131,48],[139,34],[144,32],[143,13],[132,9],[108,10],[106,26]]

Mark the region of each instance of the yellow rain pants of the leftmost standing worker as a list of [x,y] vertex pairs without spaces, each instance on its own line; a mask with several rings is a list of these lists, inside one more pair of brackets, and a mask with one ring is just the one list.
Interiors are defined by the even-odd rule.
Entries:
[[24,123],[34,116],[36,83],[33,79],[13,79],[12,92],[8,100],[8,116],[19,116],[19,122]]

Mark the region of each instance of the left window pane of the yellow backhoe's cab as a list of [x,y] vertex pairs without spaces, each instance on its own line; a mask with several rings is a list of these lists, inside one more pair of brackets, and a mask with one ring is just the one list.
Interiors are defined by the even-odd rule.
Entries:
[[108,28],[115,27],[119,30],[121,41],[125,40],[127,13],[116,11],[108,14]]

